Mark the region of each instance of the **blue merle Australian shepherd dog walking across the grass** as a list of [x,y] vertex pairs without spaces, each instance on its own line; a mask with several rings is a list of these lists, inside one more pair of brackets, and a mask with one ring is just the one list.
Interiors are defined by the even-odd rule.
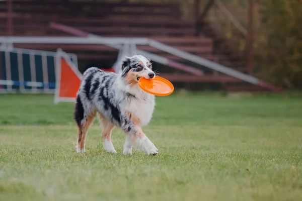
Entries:
[[87,132],[95,117],[103,126],[104,149],[116,154],[111,131],[121,128],[125,133],[124,155],[132,155],[132,147],[157,155],[158,148],[142,132],[152,119],[155,96],[138,86],[140,77],[154,79],[152,63],[142,55],[125,57],[119,73],[88,68],[77,92],[73,119],[78,125],[77,152],[85,152]]

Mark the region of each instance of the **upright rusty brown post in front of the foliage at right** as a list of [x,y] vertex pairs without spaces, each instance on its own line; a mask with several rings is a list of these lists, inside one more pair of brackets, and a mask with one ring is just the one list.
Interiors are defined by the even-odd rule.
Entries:
[[248,11],[248,72],[253,74],[253,11],[254,11],[254,0],[249,0],[249,11]]

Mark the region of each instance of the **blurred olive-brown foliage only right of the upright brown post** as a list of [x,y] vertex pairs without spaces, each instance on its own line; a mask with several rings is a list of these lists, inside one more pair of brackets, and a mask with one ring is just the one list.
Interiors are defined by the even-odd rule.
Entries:
[[258,74],[279,85],[302,88],[302,2],[262,0],[259,4]]

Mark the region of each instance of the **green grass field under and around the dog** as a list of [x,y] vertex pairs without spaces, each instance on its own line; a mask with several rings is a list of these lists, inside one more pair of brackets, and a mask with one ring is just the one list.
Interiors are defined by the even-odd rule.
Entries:
[[0,200],[301,200],[301,95],[157,98],[159,155],[103,150],[98,121],[75,153],[73,104],[0,95]]

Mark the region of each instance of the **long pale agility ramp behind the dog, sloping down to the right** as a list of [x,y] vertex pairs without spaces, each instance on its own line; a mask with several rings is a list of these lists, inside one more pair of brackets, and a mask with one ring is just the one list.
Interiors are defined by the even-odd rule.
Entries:
[[[218,63],[212,62],[210,60],[201,58],[199,56],[190,54],[173,48],[169,45],[157,42],[148,38],[118,38],[118,37],[0,37],[0,44],[4,46],[13,46],[14,43],[18,44],[102,44],[116,49],[124,49],[126,52],[123,54],[133,54],[139,52],[136,49],[136,45],[148,45],[153,48],[162,50],[164,52],[170,53],[172,55],[184,58],[188,61],[197,63],[201,66],[216,70],[218,72],[236,77],[243,81],[246,81],[251,84],[256,84],[270,90],[279,91],[280,88],[277,88],[269,83],[259,80],[256,77],[251,75],[244,74],[240,71],[234,70],[232,68],[220,65]],[[149,54],[147,52],[140,51],[141,54]],[[122,55],[119,56],[119,59]],[[157,57],[158,60],[162,59],[158,55],[153,55],[154,58]],[[117,70],[120,69],[120,66]]]

